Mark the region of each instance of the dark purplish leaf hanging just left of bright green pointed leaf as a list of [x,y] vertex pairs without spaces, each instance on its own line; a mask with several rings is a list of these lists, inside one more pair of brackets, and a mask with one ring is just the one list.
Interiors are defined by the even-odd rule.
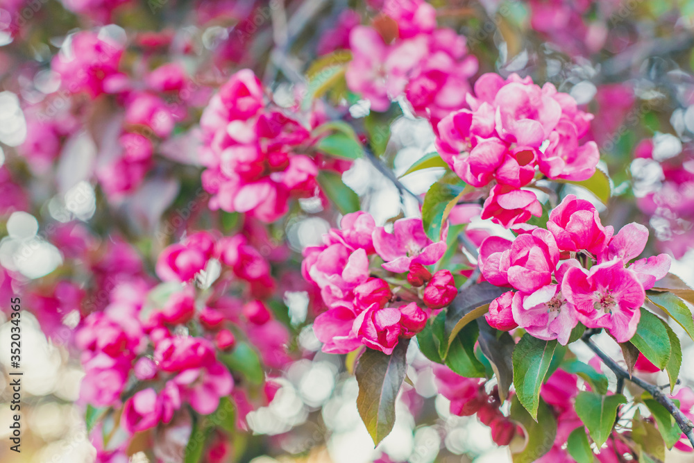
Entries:
[[511,360],[516,342],[507,332],[500,332],[489,326],[483,318],[477,319],[477,326],[480,327],[480,343],[482,353],[491,363],[499,385],[499,398],[505,401],[509,388],[514,380],[514,366]]

